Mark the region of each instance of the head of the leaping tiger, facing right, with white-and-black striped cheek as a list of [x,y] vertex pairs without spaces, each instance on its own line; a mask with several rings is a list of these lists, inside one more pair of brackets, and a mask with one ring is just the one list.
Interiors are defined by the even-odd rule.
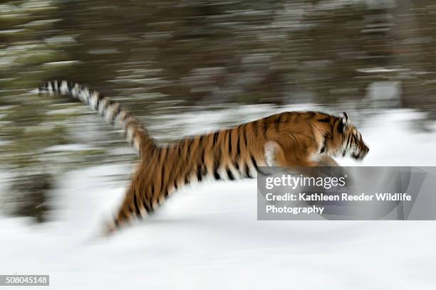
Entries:
[[348,121],[346,112],[343,112],[337,124],[338,137],[337,154],[342,156],[349,155],[356,160],[362,160],[369,152],[368,146],[363,142],[362,134]]

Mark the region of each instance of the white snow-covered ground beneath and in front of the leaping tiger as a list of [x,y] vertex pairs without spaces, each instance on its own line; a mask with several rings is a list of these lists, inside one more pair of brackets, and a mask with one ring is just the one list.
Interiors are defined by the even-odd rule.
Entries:
[[[361,165],[435,165],[419,114],[376,115]],[[50,274],[51,289],[435,289],[434,221],[257,221],[256,181],[186,188],[151,220],[92,239],[127,186],[110,175],[125,170],[59,176],[52,222],[0,218],[0,274]]]

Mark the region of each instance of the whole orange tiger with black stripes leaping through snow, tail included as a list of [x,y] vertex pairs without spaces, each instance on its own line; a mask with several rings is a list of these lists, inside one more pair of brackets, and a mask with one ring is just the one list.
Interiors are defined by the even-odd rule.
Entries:
[[261,166],[339,166],[334,157],[351,156],[360,161],[369,151],[346,112],[339,117],[323,112],[281,112],[159,146],[136,117],[96,90],[68,80],[50,80],[42,82],[37,91],[88,104],[106,122],[122,129],[140,156],[124,200],[105,228],[107,234],[151,215],[189,183],[256,178]]

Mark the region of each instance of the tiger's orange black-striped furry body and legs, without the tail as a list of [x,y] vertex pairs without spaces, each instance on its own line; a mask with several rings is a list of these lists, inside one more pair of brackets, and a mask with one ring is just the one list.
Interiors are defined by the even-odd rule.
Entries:
[[268,165],[266,146],[273,147],[275,163],[271,165],[288,168],[335,166],[332,156],[343,153],[348,138],[353,139],[351,149],[357,146],[366,154],[368,147],[355,127],[348,124],[340,132],[341,122],[341,118],[321,112],[284,112],[155,149],[150,158],[142,159],[115,226],[132,215],[152,213],[168,195],[191,181],[207,176],[254,177],[258,166]]

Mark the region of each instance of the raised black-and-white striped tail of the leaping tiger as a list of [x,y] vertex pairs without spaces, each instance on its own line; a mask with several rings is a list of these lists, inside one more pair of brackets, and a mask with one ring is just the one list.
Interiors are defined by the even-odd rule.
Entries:
[[38,92],[69,96],[88,104],[91,109],[98,111],[108,124],[123,129],[129,144],[133,145],[142,159],[156,147],[155,142],[137,118],[123,109],[118,102],[104,97],[100,92],[68,80],[42,82],[38,87]]

